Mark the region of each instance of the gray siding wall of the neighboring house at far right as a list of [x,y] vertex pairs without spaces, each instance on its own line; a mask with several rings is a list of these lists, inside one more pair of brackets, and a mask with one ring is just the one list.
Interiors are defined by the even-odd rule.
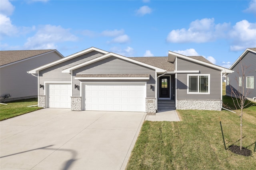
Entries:
[[[246,96],[247,98],[254,98],[256,97],[256,53],[248,52],[244,58],[234,66],[232,69],[234,72],[227,74],[227,77],[229,77],[230,85],[234,88],[234,90],[239,90],[238,88],[238,80],[239,77],[242,77],[242,66],[246,67],[245,69],[245,77],[244,77],[244,90],[245,92],[249,92],[249,94]],[[248,76],[254,76],[254,89],[246,88],[246,77]],[[241,90],[239,90],[241,91]],[[226,94],[228,96],[231,95],[231,89],[230,86],[226,86]],[[234,96],[234,95],[233,95]]]

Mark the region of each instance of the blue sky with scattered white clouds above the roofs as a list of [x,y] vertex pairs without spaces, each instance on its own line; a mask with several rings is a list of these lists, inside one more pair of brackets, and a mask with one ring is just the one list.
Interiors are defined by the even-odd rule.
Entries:
[[228,68],[256,47],[256,0],[1,0],[0,38],[1,50],[174,51]]

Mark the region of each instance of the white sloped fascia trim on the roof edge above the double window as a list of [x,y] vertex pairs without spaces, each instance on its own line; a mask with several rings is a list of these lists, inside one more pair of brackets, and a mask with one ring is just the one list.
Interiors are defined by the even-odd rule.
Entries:
[[[192,59],[190,57],[187,57],[185,55],[181,55],[181,54],[178,54],[178,53],[174,53],[172,51],[169,51],[169,54],[170,55],[176,55],[177,57],[180,57],[182,59],[186,59],[186,60],[189,60],[189,61],[193,61],[195,63],[199,63],[199,64],[203,64],[203,65],[206,65],[206,66],[210,66],[210,67],[216,68],[218,70],[221,70],[222,73],[232,73],[233,72],[232,70],[230,70],[228,68],[224,68],[224,67],[217,66],[217,65],[214,65],[214,64],[206,63],[204,61],[200,61],[200,60],[197,60],[197,59]],[[177,68],[176,68],[176,70],[177,70]]]

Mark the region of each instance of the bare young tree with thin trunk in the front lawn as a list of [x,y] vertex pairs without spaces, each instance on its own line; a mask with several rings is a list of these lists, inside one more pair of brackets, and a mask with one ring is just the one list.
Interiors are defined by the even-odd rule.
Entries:
[[234,106],[237,108],[237,106],[241,109],[240,113],[238,114],[240,116],[240,150],[242,150],[242,118],[243,118],[243,109],[244,107],[252,104],[252,102],[249,102],[246,100],[247,96],[250,94],[250,89],[246,89],[246,69],[248,69],[249,66],[246,66],[242,64],[240,59],[240,66],[237,67],[237,74],[238,77],[236,77],[236,85],[238,85],[237,89],[235,89],[230,84],[230,94],[231,98],[233,100]]

